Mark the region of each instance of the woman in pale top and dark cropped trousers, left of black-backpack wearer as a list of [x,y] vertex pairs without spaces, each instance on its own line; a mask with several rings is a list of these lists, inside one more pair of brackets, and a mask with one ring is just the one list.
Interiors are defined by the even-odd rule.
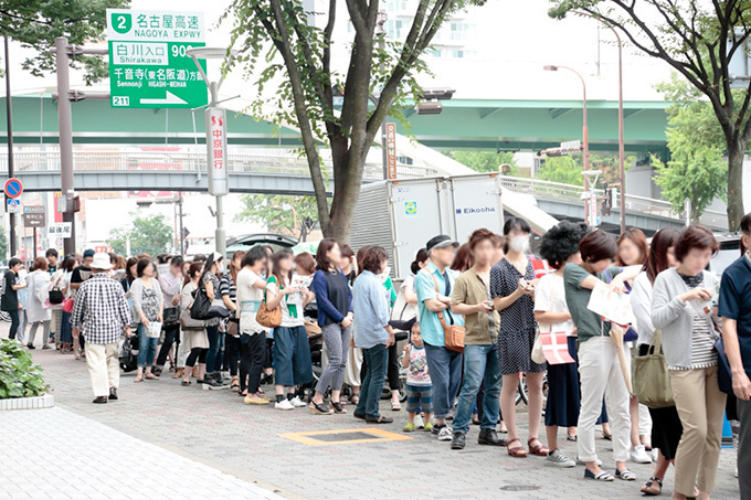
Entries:
[[193,292],[198,289],[199,280],[201,279],[201,272],[203,263],[192,263],[188,268],[186,280],[180,291],[180,326],[182,327],[182,342],[181,347],[188,350],[189,354],[186,359],[186,368],[182,373],[181,385],[190,385],[190,374],[193,372],[193,366],[198,363],[198,383],[203,383],[203,376],[207,372],[207,353],[209,352],[209,337],[203,320],[193,319],[190,316],[190,308],[193,305]]

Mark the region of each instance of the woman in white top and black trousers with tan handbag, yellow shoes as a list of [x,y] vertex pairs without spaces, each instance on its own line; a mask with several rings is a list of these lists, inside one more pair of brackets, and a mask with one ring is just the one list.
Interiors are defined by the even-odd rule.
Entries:
[[[267,312],[263,305],[266,279],[261,274],[267,267],[266,251],[254,246],[242,260],[237,273],[237,306],[240,307],[240,395],[245,404],[266,405],[271,403],[261,391],[261,374],[266,360],[266,332],[261,325],[260,312]],[[279,309],[279,321],[282,310]]]

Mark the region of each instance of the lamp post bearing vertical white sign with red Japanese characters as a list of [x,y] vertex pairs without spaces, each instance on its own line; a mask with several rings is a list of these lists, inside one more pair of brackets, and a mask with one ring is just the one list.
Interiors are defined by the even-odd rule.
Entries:
[[[199,58],[214,58],[224,60],[226,66],[232,63],[235,56],[234,51],[228,51],[228,49],[222,47],[192,47],[188,50],[188,55],[195,63],[203,82],[205,82],[209,88],[209,107],[207,108],[207,167],[209,169],[209,192],[215,196],[216,200],[216,252],[225,257],[226,260],[226,232],[224,231],[224,208],[223,208],[223,196],[229,192],[229,179],[228,179],[228,164],[226,164],[226,124],[224,123],[224,110],[216,105],[219,104],[219,89],[224,83],[225,73],[222,72],[219,81],[212,82],[209,79],[203,66],[199,62]],[[221,150],[222,158],[221,162],[216,163],[218,158],[212,157],[212,131],[211,127],[215,126],[221,134]]]

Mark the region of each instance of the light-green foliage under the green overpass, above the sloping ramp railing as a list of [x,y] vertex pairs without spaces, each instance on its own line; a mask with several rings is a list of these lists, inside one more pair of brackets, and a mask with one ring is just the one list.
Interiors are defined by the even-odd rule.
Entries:
[[[625,158],[625,170],[634,161],[632,157]],[[538,178],[561,182],[563,184],[584,185],[583,156],[569,155],[563,157],[548,157],[537,172]],[[620,181],[617,155],[592,155],[590,153],[590,170],[602,170],[597,179],[597,188],[602,184],[614,184]]]

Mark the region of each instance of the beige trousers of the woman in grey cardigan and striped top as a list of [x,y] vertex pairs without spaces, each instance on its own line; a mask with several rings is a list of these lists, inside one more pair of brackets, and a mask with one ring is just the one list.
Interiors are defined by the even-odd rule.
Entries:
[[717,366],[670,370],[670,384],[684,425],[676,453],[675,490],[687,497],[694,496],[694,485],[712,491],[717,488],[727,397],[717,383]]

